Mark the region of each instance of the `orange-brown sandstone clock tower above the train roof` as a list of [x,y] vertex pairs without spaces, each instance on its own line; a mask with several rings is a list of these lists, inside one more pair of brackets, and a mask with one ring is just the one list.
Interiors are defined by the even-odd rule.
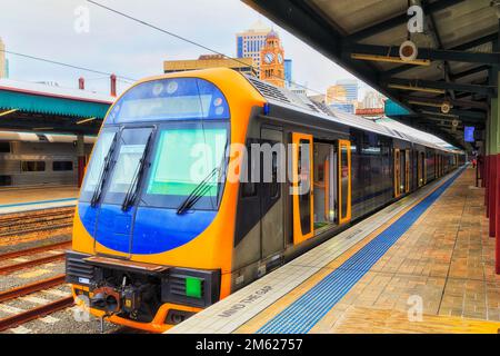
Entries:
[[284,87],[284,51],[278,33],[272,30],[260,50],[260,79]]

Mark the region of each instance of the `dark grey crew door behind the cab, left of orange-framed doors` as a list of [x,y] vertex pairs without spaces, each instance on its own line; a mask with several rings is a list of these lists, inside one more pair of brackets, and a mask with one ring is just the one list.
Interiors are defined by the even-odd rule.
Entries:
[[[273,149],[270,157],[264,157],[261,162],[267,165],[261,169],[263,179],[261,187],[261,257],[268,258],[284,248],[284,199],[283,186],[280,182],[278,169],[284,167],[284,152],[280,149],[283,142],[283,132],[277,129],[262,128],[261,142],[269,144]],[[270,169],[270,171],[267,171]]]

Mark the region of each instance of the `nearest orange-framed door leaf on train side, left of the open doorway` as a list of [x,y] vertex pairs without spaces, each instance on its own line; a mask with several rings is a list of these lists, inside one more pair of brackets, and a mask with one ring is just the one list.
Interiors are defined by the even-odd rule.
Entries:
[[313,141],[312,135],[292,134],[293,244],[314,234]]

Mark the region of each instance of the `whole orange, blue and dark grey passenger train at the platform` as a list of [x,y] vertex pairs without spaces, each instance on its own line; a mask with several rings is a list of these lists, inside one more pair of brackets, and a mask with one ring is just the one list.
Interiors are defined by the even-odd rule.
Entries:
[[[193,179],[200,142],[211,159]],[[292,144],[270,181],[247,179],[263,160],[234,147],[252,144]],[[93,315],[164,332],[463,162],[230,69],[146,79],[101,128],[67,280]]]

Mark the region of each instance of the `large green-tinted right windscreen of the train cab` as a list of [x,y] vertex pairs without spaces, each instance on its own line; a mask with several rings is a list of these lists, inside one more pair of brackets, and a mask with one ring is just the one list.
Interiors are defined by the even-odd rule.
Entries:
[[146,205],[178,208],[198,191],[197,209],[217,209],[226,175],[227,141],[226,125],[161,129],[143,197]]

